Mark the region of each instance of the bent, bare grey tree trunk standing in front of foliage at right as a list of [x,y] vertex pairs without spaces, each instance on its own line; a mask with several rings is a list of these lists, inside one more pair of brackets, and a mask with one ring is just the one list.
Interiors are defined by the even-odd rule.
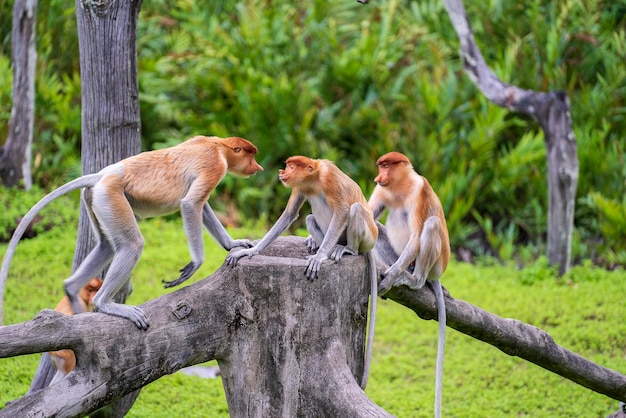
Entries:
[[548,260],[559,274],[570,267],[574,205],[578,188],[578,146],[567,94],[523,90],[502,82],[487,66],[474,41],[462,0],[444,0],[459,37],[469,78],[495,104],[531,116],[544,132],[548,158]]

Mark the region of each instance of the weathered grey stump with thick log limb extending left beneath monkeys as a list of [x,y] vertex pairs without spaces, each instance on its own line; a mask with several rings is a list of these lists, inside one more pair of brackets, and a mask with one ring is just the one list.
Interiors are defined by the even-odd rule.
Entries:
[[280,238],[263,255],[142,305],[147,331],[123,318],[49,310],[0,328],[0,357],[60,347],[77,354],[72,374],[7,404],[0,417],[78,416],[211,359],[232,417],[391,416],[358,384],[370,292],[365,258],[326,263],[307,280],[306,255],[304,238]]

